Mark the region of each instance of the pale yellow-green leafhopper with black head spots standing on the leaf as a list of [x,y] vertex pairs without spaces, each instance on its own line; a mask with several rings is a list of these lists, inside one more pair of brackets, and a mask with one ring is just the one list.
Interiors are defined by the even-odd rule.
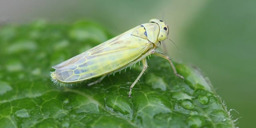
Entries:
[[101,76],[95,82],[88,84],[90,86],[100,82],[109,74],[119,72],[142,61],[143,70],[130,86],[128,97],[131,97],[132,88],[148,67],[146,57],[150,54],[168,60],[174,74],[184,79],[183,76],[177,73],[168,56],[156,52],[156,48],[168,38],[168,34],[169,28],[164,21],[151,19],[149,23],[136,26],[119,36],[53,66],[55,72],[51,72],[52,81],[55,84],[71,84]]

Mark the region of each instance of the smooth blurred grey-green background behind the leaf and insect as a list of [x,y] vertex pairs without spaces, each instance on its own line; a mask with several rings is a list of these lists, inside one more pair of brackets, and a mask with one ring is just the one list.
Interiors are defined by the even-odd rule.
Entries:
[[236,126],[249,128],[256,113],[255,5],[254,0],[1,0],[0,23],[86,19],[117,35],[151,18],[163,19],[182,54],[170,41],[164,51],[201,68],[227,108],[237,111],[231,112],[239,118]]

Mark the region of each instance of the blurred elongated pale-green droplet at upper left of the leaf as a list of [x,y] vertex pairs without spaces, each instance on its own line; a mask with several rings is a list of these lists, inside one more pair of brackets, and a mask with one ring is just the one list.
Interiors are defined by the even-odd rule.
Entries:
[[6,48],[6,52],[9,54],[17,53],[20,51],[31,51],[36,50],[37,44],[32,41],[20,41],[11,44],[8,48]]

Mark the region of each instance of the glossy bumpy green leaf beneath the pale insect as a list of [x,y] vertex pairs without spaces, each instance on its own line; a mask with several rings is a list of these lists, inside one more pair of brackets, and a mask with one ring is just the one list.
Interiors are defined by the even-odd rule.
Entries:
[[[141,66],[123,70],[93,86],[83,82],[56,86],[51,66],[110,38],[92,22],[0,28],[0,126],[29,127],[172,127],[233,128],[226,106],[204,75],[193,66],[175,64],[152,55],[146,74],[129,87]],[[99,38],[97,38],[99,37]]]

